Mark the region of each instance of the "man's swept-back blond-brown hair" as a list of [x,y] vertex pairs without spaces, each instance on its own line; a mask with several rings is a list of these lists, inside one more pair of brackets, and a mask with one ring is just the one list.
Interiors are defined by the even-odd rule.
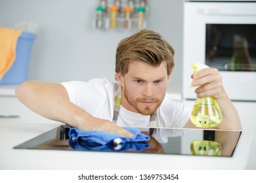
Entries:
[[167,63],[167,75],[174,67],[173,55],[175,50],[159,33],[143,29],[130,37],[121,40],[116,50],[116,73],[125,75],[129,62],[136,60],[148,63],[153,67]]

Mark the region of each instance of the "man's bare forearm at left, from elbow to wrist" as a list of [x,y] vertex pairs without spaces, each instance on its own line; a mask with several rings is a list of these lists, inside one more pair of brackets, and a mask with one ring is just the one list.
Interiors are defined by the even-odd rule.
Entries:
[[16,88],[18,99],[33,112],[51,120],[77,127],[78,115],[88,115],[70,103],[68,93],[60,84],[48,82],[24,82]]

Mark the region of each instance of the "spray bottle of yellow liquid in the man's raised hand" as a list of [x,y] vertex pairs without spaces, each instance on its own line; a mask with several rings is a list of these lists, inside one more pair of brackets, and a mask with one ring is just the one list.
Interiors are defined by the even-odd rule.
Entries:
[[[202,63],[192,63],[194,74],[202,69],[209,68]],[[192,87],[192,85],[190,86]],[[190,117],[196,127],[214,127],[221,123],[222,114],[214,97],[197,98]]]

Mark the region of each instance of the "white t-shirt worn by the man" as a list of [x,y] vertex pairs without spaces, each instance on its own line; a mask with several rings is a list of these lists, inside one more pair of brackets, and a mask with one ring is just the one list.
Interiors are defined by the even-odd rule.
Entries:
[[[88,82],[62,82],[66,88],[70,101],[83,108],[86,112],[104,120],[113,120],[114,99],[119,94],[118,84],[106,78],[92,79]],[[157,127],[182,128],[190,119],[190,110],[182,103],[172,101],[168,94],[155,112]],[[117,125],[131,127],[149,127],[150,116],[131,112],[120,107]]]

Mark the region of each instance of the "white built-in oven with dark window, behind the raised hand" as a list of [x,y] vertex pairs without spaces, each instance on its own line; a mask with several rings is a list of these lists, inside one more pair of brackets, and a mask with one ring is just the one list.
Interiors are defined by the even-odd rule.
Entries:
[[256,3],[184,3],[184,99],[190,88],[192,63],[219,69],[232,101],[256,101]]

